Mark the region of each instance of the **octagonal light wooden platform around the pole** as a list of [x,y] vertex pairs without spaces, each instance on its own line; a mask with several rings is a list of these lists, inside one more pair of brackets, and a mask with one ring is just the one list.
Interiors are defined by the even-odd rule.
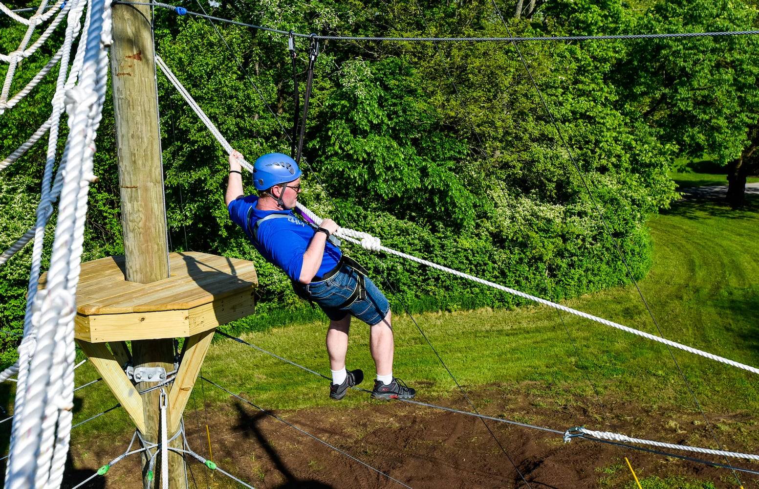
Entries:
[[253,262],[194,251],[168,258],[171,276],[149,284],[124,279],[123,256],[82,263],[75,338],[99,343],[186,337],[253,314]]

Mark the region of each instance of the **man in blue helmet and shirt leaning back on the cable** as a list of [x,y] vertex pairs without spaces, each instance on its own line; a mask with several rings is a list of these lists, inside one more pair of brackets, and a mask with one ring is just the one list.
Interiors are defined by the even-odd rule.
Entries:
[[345,368],[351,316],[371,327],[370,352],[376,366],[374,399],[411,399],[415,390],[392,375],[395,348],[390,306],[366,271],[343,256],[331,238],[339,226],[324,219],[319,227],[292,212],[301,192],[301,169],[290,156],[268,153],[254,163],[253,183],[258,195],[244,195],[241,153],[229,156],[225,201],[232,221],[244,229],[259,253],[281,268],[303,298],[315,302],[329,317],[326,346],[332,383],[329,397],[342,399],[348,387],[364,380],[364,373]]

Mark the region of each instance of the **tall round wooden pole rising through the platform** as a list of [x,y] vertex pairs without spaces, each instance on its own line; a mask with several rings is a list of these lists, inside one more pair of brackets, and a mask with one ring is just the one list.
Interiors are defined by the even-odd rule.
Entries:
[[[151,11],[148,5],[113,5],[111,75],[116,121],[118,179],[121,187],[121,225],[124,229],[125,278],[128,282],[150,283],[167,279],[168,241],[164,207],[163,171],[158,121],[158,94],[153,52]],[[172,339],[132,342],[134,368],[174,369]],[[151,371],[153,372],[153,371]],[[137,390],[156,386],[159,375],[137,383]],[[142,377],[140,377],[142,378]],[[135,380],[137,375],[135,375]],[[144,379],[148,380],[148,379]],[[168,393],[169,386],[165,386]],[[145,415],[143,439],[159,443],[161,390],[142,395]],[[168,396],[166,396],[168,402]],[[170,406],[167,406],[167,411]],[[169,430],[171,438],[176,431]],[[181,437],[171,443],[181,447]],[[160,467],[148,474],[143,452],[143,486],[159,487]],[[185,487],[184,461],[171,452],[169,487]]]

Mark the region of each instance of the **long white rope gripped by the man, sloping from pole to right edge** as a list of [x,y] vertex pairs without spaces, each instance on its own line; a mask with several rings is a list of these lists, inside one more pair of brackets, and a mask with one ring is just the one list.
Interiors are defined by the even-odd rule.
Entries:
[[[205,124],[206,127],[209,129],[209,131],[211,131],[211,133],[214,134],[214,136],[216,136],[216,140],[219,140],[219,143],[222,144],[222,147],[224,147],[227,153],[231,153],[232,148],[227,142],[227,140],[225,140],[224,137],[221,136],[221,134],[219,133],[219,130],[216,128],[216,126],[213,125],[213,122],[206,116],[205,112],[203,112],[203,110],[197,106],[197,103],[195,103],[195,101],[192,99],[190,94],[187,93],[187,90],[184,90],[184,87],[182,87],[179,81],[176,80],[176,77],[174,77],[174,75],[171,74],[171,71],[168,70],[168,68],[164,65],[162,61],[159,62],[158,56],[156,56],[156,63],[161,67],[161,69],[164,71],[168,79],[172,81],[172,84],[174,84],[174,86],[177,88],[177,90],[179,90],[182,96],[184,96],[184,99],[187,100],[187,103],[194,109],[195,113],[198,115],[198,117],[200,117],[200,120],[203,121],[203,124]],[[247,169],[248,172],[253,172],[253,167],[250,166],[250,163],[243,160],[241,161],[241,166],[244,169]],[[317,225],[319,225],[322,222],[323,220],[322,218],[320,218],[319,216],[317,216],[316,214],[308,210],[301,203],[296,203],[296,205],[298,206],[298,209],[301,210],[302,213],[308,216],[309,219],[313,220],[313,222],[315,222]],[[561,304],[556,304],[556,302],[546,301],[546,299],[539,298],[534,295],[525,294],[524,292],[519,292],[516,289],[510,289],[509,287],[501,286],[495,282],[490,282],[485,279],[480,279],[476,276],[469,275],[468,273],[458,272],[457,270],[453,270],[452,268],[443,267],[442,265],[438,265],[437,263],[433,263],[427,260],[422,260],[421,258],[414,257],[410,254],[405,254],[400,251],[395,251],[390,248],[386,248],[380,244],[379,238],[375,238],[366,232],[354,231],[353,229],[347,229],[347,228],[340,228],[338,229],[337,232],[335,232],[335,234],[357,245],[361,245],[367,250],[384,251],[389,254],[394,254],[397,257],[402,257],[407,260],[411,260],[417,263],[421,263],[423,265],[427,265],[427,267],[432,267],[437,270],[442,270],[443,272],[451,273],[452,275],[455,275],[455,276],[460,276],[461,278],[464,278],[464,279],[469,279],[473,282],[480,283],[483,286],[493,287],[493,289],[502,290],[503,292],[508,292],[509,294],[517,295],[518,297],[521,297],[521,298],[530,299],[531,301],[535,301],[539,304],[544,304],[552,308],[559,309],[560,311],[565,311],[570,314],[575,314],[576,316],[584,317],[585,319],[593,320],[593,321],[596,321],[597,323],[614,327],[618,330],[622,330],[627,333],[632,333],[638,336],[642,336],[646,339],[650,339],[656,342],[663,343],[665,345],[672,346],[672,348],[681,349],[685,352],[689,352],[694,355],[701,355],[702,357],[709,358],[710,360],[720,361],[724,364],[732,365],[732,367],[741,368],[742,370],[753,372],[754,374],[759,374],[759,368],[751,367],[750,365],[742,364],[737,361],[732,361],[732,360],[729,360],[728,358],[723,358],[718,355],[713,355],[711,353],[707,353],[699,349],[694,349],[694,348],[691,348],[690,346],[682,345],[678,342],[673,342],[669,339],[661,338],[660,336],[654,336],[650,333],[645,333],[644,331],[634,330],[633,328],[623,326],[622,324],[614,323],[613,321],[605,320],[601,317],[597,317],[592,314],[587,314],[582,311],[577,311],[575,309],[568,308]]]

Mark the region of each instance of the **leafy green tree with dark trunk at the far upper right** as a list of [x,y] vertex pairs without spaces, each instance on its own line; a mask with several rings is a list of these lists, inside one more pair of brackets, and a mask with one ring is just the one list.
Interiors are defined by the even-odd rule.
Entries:
[[[638,20],[645,32],[740,31],[757,27],[756,5],[658,2]],[[619,65],[620,101],[691,159],[728,167],[728,199],[742,204],[745,177],[759,168],[759,86],[755,36],[657,39],[636,43]]]

